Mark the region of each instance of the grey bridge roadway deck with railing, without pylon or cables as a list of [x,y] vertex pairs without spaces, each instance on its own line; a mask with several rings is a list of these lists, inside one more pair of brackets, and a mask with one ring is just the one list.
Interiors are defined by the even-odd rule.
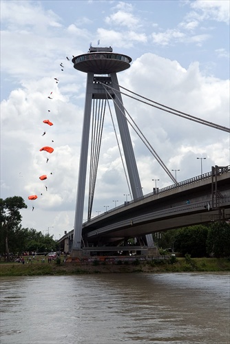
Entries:
[[[125,202],[83,223],[83,241],[87,243],[83,254],[118,249],[147,253],[143,235],[229,219],[230,166],[213,166],[209,173]],[[60,239],[63,250],[71,250],[73,234],[74,230]],[[134,237],[136,246],[127,245]]]

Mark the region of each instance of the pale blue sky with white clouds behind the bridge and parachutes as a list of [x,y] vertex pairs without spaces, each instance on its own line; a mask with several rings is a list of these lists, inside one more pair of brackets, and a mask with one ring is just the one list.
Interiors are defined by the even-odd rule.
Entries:
[[[28,206],[21,211],[23,228],[55,239],[74,228],[87,75],[66,56],[87,53],[90,43],[132,58],[129,69],[118,73],[119,85],[229,127],[228,0],[0,4],[1,198],[23,197]],[[203,173],[230,164],[229,133],[125,95],[123,103],[178,182],[200,175],[201,163]],[[45,125],[47,119],[54,125]],[[160,189],[173,184],[132,128],[130,133],[143,193],[152,191],[155,180]],[[44,146],[54,152],[40,151]],[[45,181],[39,180],[43,174]],[[35,194],[36,200],[28,200]],[[85,194],[83,220],[87,187]],[[107,114],[92,216],[126,197],[131,198]]]

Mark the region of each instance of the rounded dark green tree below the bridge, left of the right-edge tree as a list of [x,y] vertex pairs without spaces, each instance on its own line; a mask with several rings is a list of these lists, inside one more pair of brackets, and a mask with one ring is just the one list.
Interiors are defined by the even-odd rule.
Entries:
[[206,257],[208,228],[202,224],[180,228],[175,236],[174,248],[183,255]]

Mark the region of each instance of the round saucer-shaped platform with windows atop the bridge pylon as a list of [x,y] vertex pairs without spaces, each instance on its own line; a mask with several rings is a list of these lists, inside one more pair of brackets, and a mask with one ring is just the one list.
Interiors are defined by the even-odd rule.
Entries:
[[132,58],[116,54],[112,47],[90,47],[87,54],[72,58],[74,68],[81,72],[94,74],[110,74],[122,72],[130,67]]

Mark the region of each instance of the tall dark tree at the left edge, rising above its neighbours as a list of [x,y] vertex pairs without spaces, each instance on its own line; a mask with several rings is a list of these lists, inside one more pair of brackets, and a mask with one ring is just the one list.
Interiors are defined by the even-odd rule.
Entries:
[[8,261],[10,261],[9,247],[12,244],[11,240],[15,232],[20,228],[21,214],[19,210],[23,208],[27,208],[27,205],[20,196],[8,197],[6,200],[0,198],[0,234],[5,244],[5,252]]

